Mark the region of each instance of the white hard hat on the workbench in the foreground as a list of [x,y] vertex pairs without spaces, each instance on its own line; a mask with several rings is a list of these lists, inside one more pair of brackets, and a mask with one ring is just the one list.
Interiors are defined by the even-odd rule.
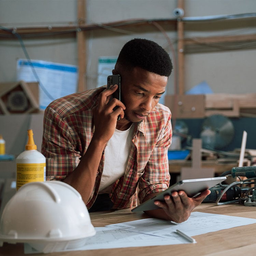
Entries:
[[30,182],[6,204],[3,242],[29,243],[44,253],[80,247],[96,233],[81,195],[61,181]]

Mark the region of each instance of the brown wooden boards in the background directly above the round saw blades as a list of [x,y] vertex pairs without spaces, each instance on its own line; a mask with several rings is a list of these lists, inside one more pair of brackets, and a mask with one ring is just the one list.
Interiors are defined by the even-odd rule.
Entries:
[[256,117],[256,93],[167,95],[165,105],[173,118],[204,118],[211,115]]

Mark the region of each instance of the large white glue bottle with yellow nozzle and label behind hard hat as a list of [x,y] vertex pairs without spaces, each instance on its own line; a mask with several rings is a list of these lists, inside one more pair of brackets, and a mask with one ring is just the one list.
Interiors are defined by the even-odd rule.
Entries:
[[28,143],[25,149],[16,158],[16,190],[29,182],[45,181],[46,159],[43,154],[37,151],[31,129],[28,130]]

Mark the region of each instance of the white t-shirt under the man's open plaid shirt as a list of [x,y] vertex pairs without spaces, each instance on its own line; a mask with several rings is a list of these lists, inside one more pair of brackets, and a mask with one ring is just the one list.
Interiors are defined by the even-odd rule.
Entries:
[[131,147],[133,127],[134,125],[125,131],[115,129],[109,140],[104,153],[105,161],[99,194],[110,193],[112,184],[124,175]]

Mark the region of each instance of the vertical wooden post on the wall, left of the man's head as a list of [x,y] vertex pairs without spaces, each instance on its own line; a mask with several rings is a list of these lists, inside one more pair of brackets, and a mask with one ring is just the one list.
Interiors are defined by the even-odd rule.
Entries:
[[[77,25],[85,24],[86,0],[77,0]],[[85,31],[77,28],[77,59],[78,59],[78,86],[77,91],[86,90],[86,46],[85,46]]]

